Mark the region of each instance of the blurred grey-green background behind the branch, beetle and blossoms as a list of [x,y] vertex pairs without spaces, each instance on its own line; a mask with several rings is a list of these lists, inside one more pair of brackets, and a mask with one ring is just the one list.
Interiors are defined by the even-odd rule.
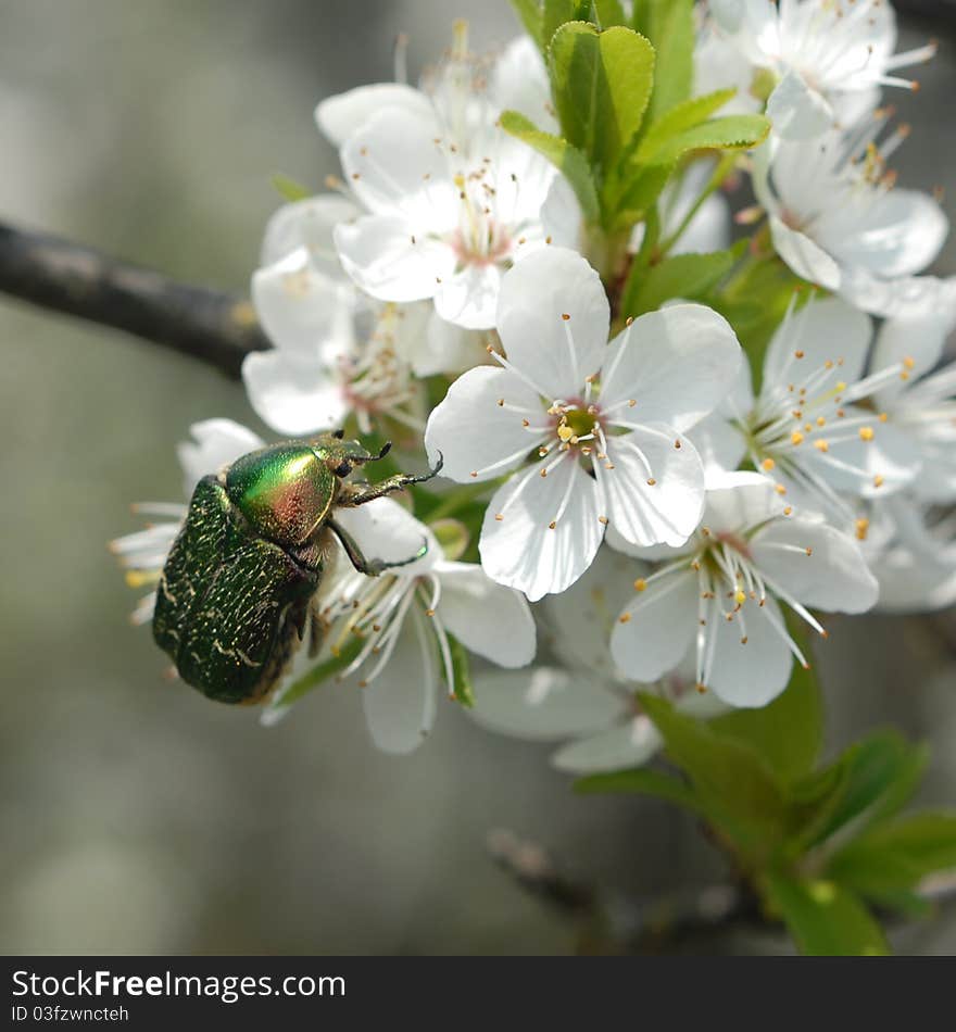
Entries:
[[[902,181],[956,196],[956,36],[933,35]],[[947,15],[948,12],[948,15]],[[0,0],[0,217],[244,291],[269,177],[318,186],[329,93],[413,75],[454,17],[477,49],[516,29],[505,0]],[[951,216],[952,204],[948,205]],[[956,273],[956,242],[938,264]],[[316,692],[278,727],[165,680],[106,541],[135,500],[178,500],[190,423],[256,426],[241,388],[120,333],[0,298],[0,952],[567,953],[571,926],[490,861],[489,830],[542,843],[581,879],[644,898],[719,879],[662,805],[580,798],[549,748],[455,707],[414,756],[373,748],[354,695]],[[893,721],[930,739],[923,796],[956,796],[952,620],[834,621],[819,657],[831,745]],[[951,646],[952,647],[952,646]],[[956,951],[946,916],[901,948]],[[708,949],[776,943],[733,935]]]

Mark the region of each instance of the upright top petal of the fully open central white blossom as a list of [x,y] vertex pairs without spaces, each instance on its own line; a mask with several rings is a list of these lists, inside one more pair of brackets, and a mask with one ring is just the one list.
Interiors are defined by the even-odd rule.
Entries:
[[498,331],[505,353],[552,399],[576,395],[600,369],[609,319],[601,277],[575,251],[543,248],[502,279]]

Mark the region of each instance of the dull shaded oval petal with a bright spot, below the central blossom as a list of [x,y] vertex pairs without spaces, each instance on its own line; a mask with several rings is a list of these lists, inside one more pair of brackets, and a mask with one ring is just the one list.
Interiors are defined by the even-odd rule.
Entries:
[[546,741],[601,731],[626,708],[621,696],[598,682],[536,667],[477,678],[475,706],[468,714],[489,730]]

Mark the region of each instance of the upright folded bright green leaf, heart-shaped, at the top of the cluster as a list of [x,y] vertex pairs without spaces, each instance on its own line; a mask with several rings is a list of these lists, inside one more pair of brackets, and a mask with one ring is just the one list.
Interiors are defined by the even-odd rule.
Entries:
[[549,65],[564,136],[602,178],[640,128],[654,80],[654,48],[619,25],[599,33],[588,22],[568,22],[554,35]]

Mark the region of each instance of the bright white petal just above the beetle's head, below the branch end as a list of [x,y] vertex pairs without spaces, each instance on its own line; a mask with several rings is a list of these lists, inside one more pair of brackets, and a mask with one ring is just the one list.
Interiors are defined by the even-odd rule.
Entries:
[[305,437],[341,426],[348,415],[341,385],[315,361],[256,351],[242,361],[242,381],[256,415],[277,433]]

